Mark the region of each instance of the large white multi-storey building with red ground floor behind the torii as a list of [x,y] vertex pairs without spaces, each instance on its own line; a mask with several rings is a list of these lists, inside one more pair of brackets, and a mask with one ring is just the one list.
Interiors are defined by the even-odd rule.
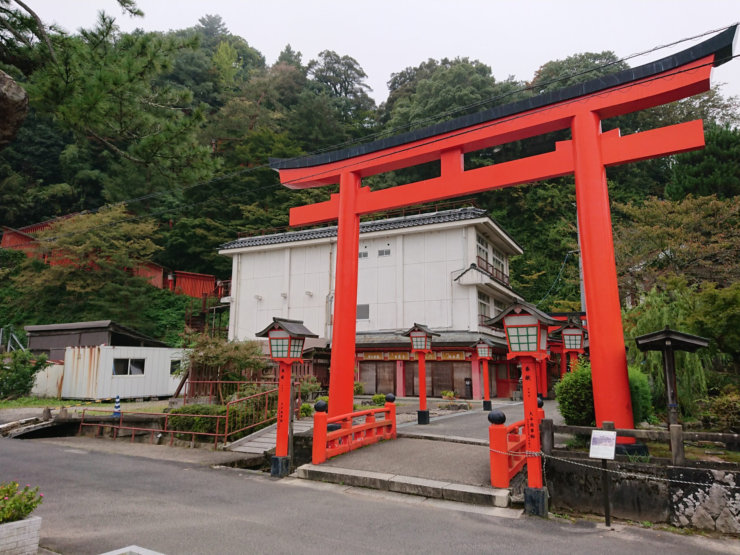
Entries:
[[[303,320],[330,343],[336,247],[336,226],[253,235],[221,246],[220,254],[233,260],[229,338],[252,339],[277,316]],[[357,362],[360,380],[375,381],[366,385],[366,391],[386,392],[392,374],[397,393],[413,394],[410,389],[416,381],[406,369],[416,362],[408,353],[404,357],[408,339],[400,332],[423,323],[441,334],[433,343],[439,350],[434,360],[440,363],[428,363],[432,369],[429,393],[438,394],[445,385],[459,388],[467,373],[472,397],[480,397],[480,372],[475,370],[478,360],[472,346],[485,334],[505,351],[503,334],[480,322],[522,298],[508,286],[508,258],[522,252],[479,208],[360,223]],[[467,370],[453,368],[465,360]],[[443,361],[449,361],[449,369]],[[495,378],[491,380],[495,391]],[[461,393],[465,396],[465,391]]]

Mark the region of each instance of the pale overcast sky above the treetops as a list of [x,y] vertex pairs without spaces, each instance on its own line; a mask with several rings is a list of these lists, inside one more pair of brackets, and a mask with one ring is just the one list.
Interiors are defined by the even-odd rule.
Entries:
[[[68,30],[90,27],[101,9],[124,31],[181,29],[206,13],[218,14],[269,64],[287,43],[303,53],[304,64],[326,49],[351,55],[378,102],[388,95],[391,73],[427,58],[468,56],[490,65],[497,78],[528,79],[546,61],[573,53],[613,50],[622,57],[740,20],[737,0],[138,0],[144,19],[122,15],[113,0],[27,1],[41,19]],[[725,94],[740,94],[740,58],[717,68],[713,78],[727,83]]]

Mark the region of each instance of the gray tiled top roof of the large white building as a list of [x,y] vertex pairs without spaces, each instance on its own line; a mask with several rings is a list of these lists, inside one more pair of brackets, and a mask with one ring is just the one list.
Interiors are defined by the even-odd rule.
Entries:
[[[484,209],[457,208],[452,210],[443,210],[440,212],[426,212],[424,214],[412,214],[401,216],[400,218],[385,218],[383,220],[363,221],[360,222],[360,233],[369,233],[377,231],[386,231],[388,229],[401,229],[404,227],[425,226],[430,223],[445,223],[450,221],[474,220],[476,218],[485,218],[487,216]],[[499,228],[501,227],[491,216]],[[511,235],[501,229],[508,238],[517,243]],[[273,233],[272,235],[254,235],[230,241],[221,245],[221,249],[239,249],[244,246],[274,245],[276,243],[293,243],[309,239],[320,239],[337,236],[337,226],[317,227],[314,229],[301,229],[295,232]],[[519,243],[517,243],[519,245]],[[521,246],[521,245],[519,245]]]

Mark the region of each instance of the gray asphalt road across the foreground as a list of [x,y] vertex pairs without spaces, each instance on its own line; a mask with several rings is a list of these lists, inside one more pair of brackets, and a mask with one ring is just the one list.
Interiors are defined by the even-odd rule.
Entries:
[[740,554],[735,540],[504,519],[261,475],[0,439],[0,482],[39,484],[41,545],[64,555],[141,545],[204,554]]

